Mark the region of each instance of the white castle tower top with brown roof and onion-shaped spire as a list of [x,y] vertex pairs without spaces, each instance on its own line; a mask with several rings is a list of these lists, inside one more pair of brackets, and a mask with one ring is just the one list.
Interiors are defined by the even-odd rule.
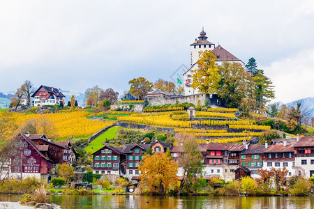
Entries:
[[213,50],[215,45],[212,42],[207,40],[206,33],[204,31],[204,27],[200,32],[200,36],[195,38],[195,42],[190,45],[190,65],[194,65],[198,60],[198,52],[205,50]]

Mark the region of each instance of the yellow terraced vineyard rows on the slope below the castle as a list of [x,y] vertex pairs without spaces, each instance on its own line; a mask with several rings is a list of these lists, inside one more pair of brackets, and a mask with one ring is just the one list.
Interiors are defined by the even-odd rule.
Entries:
[[[196,111],[195,117],[187,118],[186,111],[145,112],[117,116],[120,123],[135,123],[152,127],[173,128],[174,132],[194,133],[200,143],[207,141],[233,142],[249,141],[260,137],[269,126],[255,125],[255,121],[242,121],[237,118],[238,109],[214,108]],[[214,117],[214,118],[213,118]]]

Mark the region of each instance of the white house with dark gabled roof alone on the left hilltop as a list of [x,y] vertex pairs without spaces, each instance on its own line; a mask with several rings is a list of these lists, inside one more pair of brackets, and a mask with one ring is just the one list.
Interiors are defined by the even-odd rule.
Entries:
[[44,85],[41,85],[33,95],[31,95],[34,107],[55,104],[59,105],[65,97],[66,96],[61,93],[60,89]]

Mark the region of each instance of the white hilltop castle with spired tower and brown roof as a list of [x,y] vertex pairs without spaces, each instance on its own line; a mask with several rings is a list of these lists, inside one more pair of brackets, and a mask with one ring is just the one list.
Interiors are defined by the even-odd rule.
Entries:
[[203,30],[200,32],[200,36],[195,38],[195,42],[190,44],[190,69],[184,72],[184,95],[193,95],[199,93],[197,90],[194,90],[190,87],[190,84],[193,83],[193,72],[192,70],[197,70],[197,61],[199,59],[199,52],[205,50],[211,50],[217,57],[216,64],[221,64],[223,61],[228,62],[238,62],[244,65],[240,59],[228,52],[226,49],[218,45],[215,47],[215,44],[207,40],[206,33]]

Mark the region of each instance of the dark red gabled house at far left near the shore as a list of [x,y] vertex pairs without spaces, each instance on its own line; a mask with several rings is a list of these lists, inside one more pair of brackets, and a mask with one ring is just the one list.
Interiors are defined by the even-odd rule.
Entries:
[[47,176],[54,162],[44,155],[27,135],[20,133],[15,139],[17,147],[15,155],[10,159],[8,178]]

